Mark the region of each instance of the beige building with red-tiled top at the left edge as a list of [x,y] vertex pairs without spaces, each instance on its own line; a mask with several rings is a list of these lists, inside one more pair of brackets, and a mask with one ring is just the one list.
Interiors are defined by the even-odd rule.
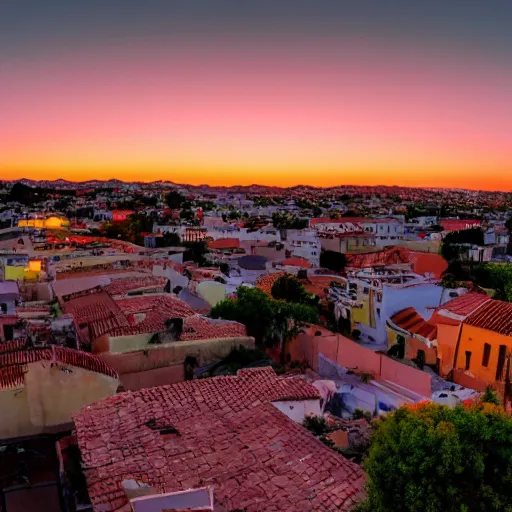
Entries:
[[0,345],[0,439],[67,430],[81,407],[118,386],[117,372],[92,354]]

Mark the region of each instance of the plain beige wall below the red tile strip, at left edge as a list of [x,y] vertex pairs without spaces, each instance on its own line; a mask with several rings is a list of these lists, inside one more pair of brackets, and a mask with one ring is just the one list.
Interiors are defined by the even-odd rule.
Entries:
[[117,379],[63,367],[66,371],[51,367],[49,361],[31,363],[23,385],[0,392],[0,438],[35,435],[68,424],[81,407],[117,391]]

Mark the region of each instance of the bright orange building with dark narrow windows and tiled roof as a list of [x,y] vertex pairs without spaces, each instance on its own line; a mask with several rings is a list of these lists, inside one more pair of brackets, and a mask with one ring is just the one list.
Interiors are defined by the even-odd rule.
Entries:
[[462,324],[455,369],[503,391],[512,354],[512,304],[489,300]]

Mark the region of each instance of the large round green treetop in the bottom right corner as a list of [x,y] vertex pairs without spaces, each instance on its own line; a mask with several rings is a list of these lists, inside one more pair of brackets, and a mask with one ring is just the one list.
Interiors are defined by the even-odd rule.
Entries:
[[401,407],[364,467],[372,512],[512,512],[512,417],[496,405]]

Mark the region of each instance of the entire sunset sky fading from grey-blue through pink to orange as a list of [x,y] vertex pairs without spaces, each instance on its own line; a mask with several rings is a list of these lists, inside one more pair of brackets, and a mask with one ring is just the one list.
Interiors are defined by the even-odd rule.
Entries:
[[512,190],[512,2],[1,0],[0,179]]

